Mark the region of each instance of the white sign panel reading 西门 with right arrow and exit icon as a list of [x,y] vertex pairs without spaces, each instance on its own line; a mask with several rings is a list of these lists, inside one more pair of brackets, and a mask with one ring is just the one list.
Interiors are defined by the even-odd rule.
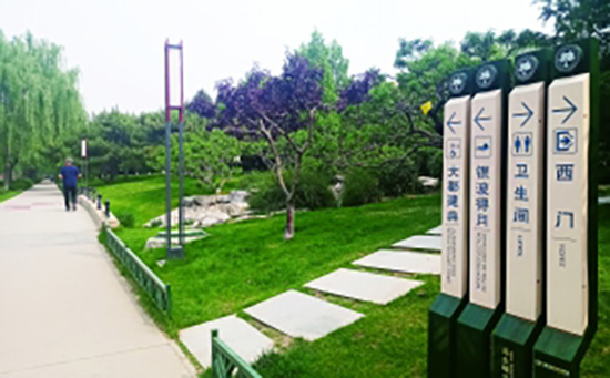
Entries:
[[589,74],[553,81],[548,103],[547,321],[582,335],[589,293]]

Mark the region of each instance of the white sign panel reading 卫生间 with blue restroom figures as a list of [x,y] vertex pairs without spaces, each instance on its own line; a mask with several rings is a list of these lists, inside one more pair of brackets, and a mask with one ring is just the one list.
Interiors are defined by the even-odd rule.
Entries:
[[508,99],[507,313],[536,321],[541,309],[545,83]]

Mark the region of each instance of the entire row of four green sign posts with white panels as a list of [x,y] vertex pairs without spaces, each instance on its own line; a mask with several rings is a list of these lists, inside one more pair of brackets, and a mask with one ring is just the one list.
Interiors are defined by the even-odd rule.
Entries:
[[598,42],[515,63],[449,79],[428,377],[579,377],[597,330]]

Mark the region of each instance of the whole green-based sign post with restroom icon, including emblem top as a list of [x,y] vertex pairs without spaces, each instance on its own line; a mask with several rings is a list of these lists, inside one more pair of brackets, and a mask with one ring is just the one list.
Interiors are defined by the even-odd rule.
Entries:
[[550,50],[516,59],[508,101],[506,314],[492,334],[494,377],[531,377],[542,328],[545,105]]

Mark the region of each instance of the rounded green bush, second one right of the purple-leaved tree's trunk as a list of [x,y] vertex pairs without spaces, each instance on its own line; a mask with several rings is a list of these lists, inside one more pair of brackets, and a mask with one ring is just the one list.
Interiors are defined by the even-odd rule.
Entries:
[[343,206],[359,206],[377,202],[382,197],[377,177],[367,170],[352,170],[345,177]]

